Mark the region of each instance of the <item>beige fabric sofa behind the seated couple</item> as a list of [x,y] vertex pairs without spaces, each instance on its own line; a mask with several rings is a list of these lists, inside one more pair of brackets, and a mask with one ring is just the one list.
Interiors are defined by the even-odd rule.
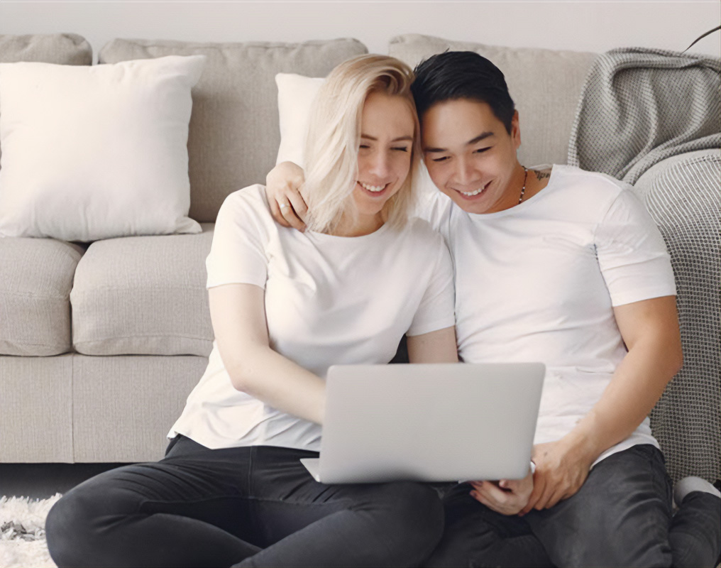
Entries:
[[[389,54],[415,65],[446,48],[478,51],[505,72],[521,117],[522,163],[567,162],[575,111],[596,54],[419,35],[394,38]],[[193,53],[208,56],[193,89],[188,140],[190,217],[203,232],[94,243],[0,239],[0,462],[162,457],[164,435],[211,351],[204,260],[216,214],[226,195],[262,183],[275,163],[280,134],[274,76],[283,71],[322,77],[366,48],[356,40],[113,40],[99,51],[99,63]],[[89,65],[92,50],[77,35],[0,36],[0,62],[11,61]],[[679,161],[676,157],[673,164]],[[663,171],[663,164],[657,165],[638,187],[650,187]],[[718,281],[711,284],[717,292]],[[704,458],[681,455],[671,443],[671,452],[680,456],[670,460],[676,477],[720,476],[718,445],[713,445],[718,399],[709,392],[704,383],[692,396],[701,401],[702,410],[693,406],[691,418],[702,416],[696,435]],[[656,419],[667,446],[686,424],[683,416],[678,419],[676,401],[662,400],[660,408],[675,414]]]

